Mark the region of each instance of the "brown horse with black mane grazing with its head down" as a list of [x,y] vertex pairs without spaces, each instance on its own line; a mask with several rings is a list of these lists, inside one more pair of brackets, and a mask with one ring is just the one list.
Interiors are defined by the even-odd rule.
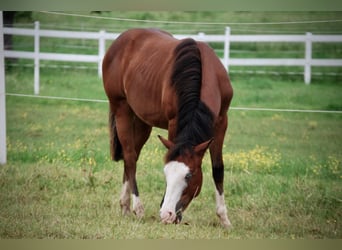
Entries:
[[168,129],[160,218],[179,223],[202,186],[202,158],[209,148],[216,187],[216,214],[230,226],[223,194],[222,146],[233,96],[228,74],[205,43],[178,40],[156,29],[132,29],[110,46],[102,66],[109,99],[111,156],[124,161],[120,205],[142,217],[136,162],[152,127]]

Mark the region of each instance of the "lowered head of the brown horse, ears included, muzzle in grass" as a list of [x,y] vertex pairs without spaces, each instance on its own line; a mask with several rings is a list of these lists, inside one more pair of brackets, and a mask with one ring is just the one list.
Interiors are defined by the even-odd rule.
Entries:
[[174,150],[175,144],[161,136],[159,139],[168,149],[164,166],[166,191],[160,205],[160,218],[164,223],[179,223],[182,212],[201,192],[202,159],[212,139],[184,151],[172,160],[168,155]]

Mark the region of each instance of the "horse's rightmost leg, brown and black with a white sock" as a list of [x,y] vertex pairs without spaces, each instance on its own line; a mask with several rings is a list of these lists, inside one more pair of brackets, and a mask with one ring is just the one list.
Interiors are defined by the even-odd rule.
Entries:
[[224,164],[222,159],[222,146],[227,129],[227,116],[219,117],[215,124],[214,141],[210,145],[210,157],[212,163],[212,174],[215,182],[216,214],[220,218],[223,227],[231,227],[227,215],[227,207],[224,200],[223,180]]

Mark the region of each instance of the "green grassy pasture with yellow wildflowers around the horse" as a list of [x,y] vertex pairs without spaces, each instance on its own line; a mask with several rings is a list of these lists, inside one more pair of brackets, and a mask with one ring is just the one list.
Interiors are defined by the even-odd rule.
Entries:
[[[189,15],[184,14],[190,19]],[[242,19],[248,18],[252,17]],[[310,86],[302,77],[231,78],[233,107],[342,110],[338,76],[314,77]],[[31,94],[32,85],[32,68],[7,69],[7,93]],[[41,95],[105,99],[96,67],[42,68]],[[153,130],[138,162],[145,217],[124,218],[119,206],[123,167],[109,159],[106,103],[8,95],[6,105],[8,163],[0,167],[2,239],[342,237],[341,114],[229,111],[223,157],[233,229],[227,231],[215,215],[208,155],[202,192],[184,213],[182,224],[159,222],[165,149],[157,134],[166,136],[166,131]]]

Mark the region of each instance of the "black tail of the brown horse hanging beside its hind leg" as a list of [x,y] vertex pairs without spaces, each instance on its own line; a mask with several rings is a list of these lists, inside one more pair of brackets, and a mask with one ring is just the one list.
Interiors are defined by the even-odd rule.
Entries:
[[119,141],[118,132],[116,129],[115,116],[112,111],[109,111],[109,135],[110,135],[110,154],[112,160],[120,161],[123,159],[122,146]]

